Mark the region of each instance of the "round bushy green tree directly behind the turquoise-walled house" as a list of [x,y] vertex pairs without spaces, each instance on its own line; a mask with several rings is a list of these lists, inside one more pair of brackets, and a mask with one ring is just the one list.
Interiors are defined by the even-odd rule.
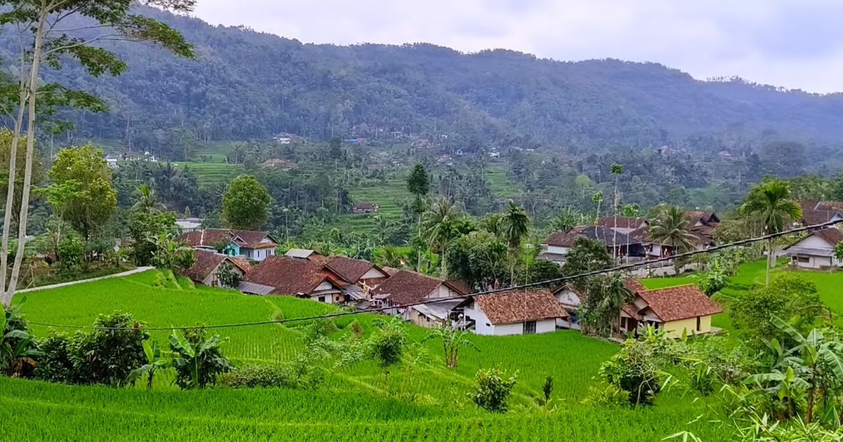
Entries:
[[234,229],[260,230],[272,197],[252,175],[240,175],[223,195],[223,221]]

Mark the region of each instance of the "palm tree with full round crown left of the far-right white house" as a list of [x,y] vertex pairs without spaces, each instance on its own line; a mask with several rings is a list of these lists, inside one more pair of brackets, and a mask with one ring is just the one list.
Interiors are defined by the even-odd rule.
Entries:
[[[756,184],[738,213],[757,218],[764,224],[765,234],[778,233],[802,217],[802,207],[790,200],[790,185],[779,180]],[[767,242],[767,285],[770,285],[770,269],[776,264],[775,240]]]

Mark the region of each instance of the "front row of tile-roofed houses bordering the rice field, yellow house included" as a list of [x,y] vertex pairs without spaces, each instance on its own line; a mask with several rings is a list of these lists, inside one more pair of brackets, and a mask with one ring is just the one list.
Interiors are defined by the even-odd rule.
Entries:
[[[424,328],[450,325],[486,335],[579,329],[577,314],[586,300],[567,285],[475,295],[463,281],[382,268],[362,259],[326,257],[299,248],[277,256],[277,241],[268,232],[204,229],[178,239],[196,249],[196,264],[185,275],[197,283],[219,285],[217,274],[228,264],[241,277],[238,289],[249,295],[297,296],[362,311],[376,309]],[[711,316],[721,312],[694,285],[647,290],[630,279],[627,288],[636,297],[619,312],[625,332],[652,325],[673,336],[709,333]]]

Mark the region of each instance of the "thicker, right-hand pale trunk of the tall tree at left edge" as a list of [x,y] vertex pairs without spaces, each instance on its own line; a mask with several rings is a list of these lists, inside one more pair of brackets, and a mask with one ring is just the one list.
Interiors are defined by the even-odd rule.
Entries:
[[30,190],[32,189],[32,157],[35,152],[35,93],[38,90],[38,72],[40,69],[41,52],[44,48],[44,27],[50,11],[47,8],[46,0],[41,1],[41,8],[38,17],[38,28],[35,29],[35,47],[32,53],[32,67],[30,67],[30,82],[27,85],[29,96],[28,120],[26,129],[26,166],[24,168],[24,189],[20,200],[20,216],[18,221],[18,251],[14,255],[12,277],[8,281],[8,290],[3,295],[3,305],[9,306],[14,297],[14,290],[18,285],[20,265],[24,260],[24,248],[26,248],[26,221],[30,214]]

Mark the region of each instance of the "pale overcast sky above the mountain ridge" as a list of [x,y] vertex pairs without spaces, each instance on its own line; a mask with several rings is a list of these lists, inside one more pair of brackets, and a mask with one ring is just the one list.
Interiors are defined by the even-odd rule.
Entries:
[[196,16],[305,43],[500,47],[843,91],[839,0],[199,0]]

